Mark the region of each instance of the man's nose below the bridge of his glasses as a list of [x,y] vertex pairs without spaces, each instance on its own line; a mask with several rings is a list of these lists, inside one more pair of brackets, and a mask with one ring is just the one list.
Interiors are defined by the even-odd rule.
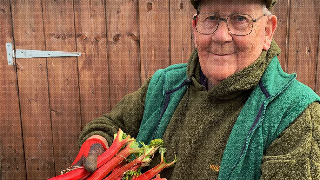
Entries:
[[232,41],[232,36],[228,30],[226,21],[220,21],[217,30],[212,35],[212,41],[218,44]]

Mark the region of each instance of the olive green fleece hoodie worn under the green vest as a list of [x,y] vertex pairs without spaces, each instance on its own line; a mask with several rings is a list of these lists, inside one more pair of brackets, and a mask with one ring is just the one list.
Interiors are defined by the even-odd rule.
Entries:
[[[173,160],[171,147],[174,147],[178,162],[175,168],[165,169],[161,173],[162,177],[168,180],[217,179],[217,170],[236,118],[268,63],[279,53],[273,42],[270,50],[263,51],[252,65],[228,77],[209,91],[205,91],[204,86],[199,83],[200,66],[197,53],[193,53],[187,73],[195,73],[196,82],[194,81],[190,88],[188,110],[184,108],[186,93],[163,136],[168,149],[167,160]],[[150,78],[138,91],[126,95],[109,114],[90,122],[79,138],[79,145],[88,137],[97,134],[105,137],[110,144],[118,128],[135,137],[140,127],[149,82]],[[261,165],[261,179],[306,179],[305,177],[319,174],[319,114],[319,103],[312,103],[269,146]],[[277,145],[274,146],[276,142]],[[293,157],[299,157],[301,152],[310,152],[310,160],[307,162],[301,159],[297,164]],[[151,167],[159,162],[159,156],[156,156]],[[284,166],[286,169],[279,168]],[[290,172],[296,174],[290,176]],[[297,174],[301,178],[297,178]]]

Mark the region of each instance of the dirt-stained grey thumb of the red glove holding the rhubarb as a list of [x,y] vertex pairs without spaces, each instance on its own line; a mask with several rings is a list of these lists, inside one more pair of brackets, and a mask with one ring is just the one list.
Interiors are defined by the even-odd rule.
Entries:
[[104,148],[100,143],[91,145],[88,156],[84,158],[84,168],[89,172],[94,172],[97,169],[97,158],[104,152]]

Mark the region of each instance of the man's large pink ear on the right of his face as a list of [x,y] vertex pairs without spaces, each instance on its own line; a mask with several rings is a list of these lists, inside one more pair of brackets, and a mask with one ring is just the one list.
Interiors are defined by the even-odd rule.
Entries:
[[265,28],[266,35],[264,38],[263,49],[268,51],[271,45],[273,33],[276,30],[278,19],[275,15],[268,16],[268,22]]

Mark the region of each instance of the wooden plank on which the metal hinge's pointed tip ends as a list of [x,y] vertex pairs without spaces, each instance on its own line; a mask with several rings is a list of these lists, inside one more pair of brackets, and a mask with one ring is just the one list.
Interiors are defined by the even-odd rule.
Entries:
[[75,24],[83,127],[110,111],[104,0],[76,0]]

